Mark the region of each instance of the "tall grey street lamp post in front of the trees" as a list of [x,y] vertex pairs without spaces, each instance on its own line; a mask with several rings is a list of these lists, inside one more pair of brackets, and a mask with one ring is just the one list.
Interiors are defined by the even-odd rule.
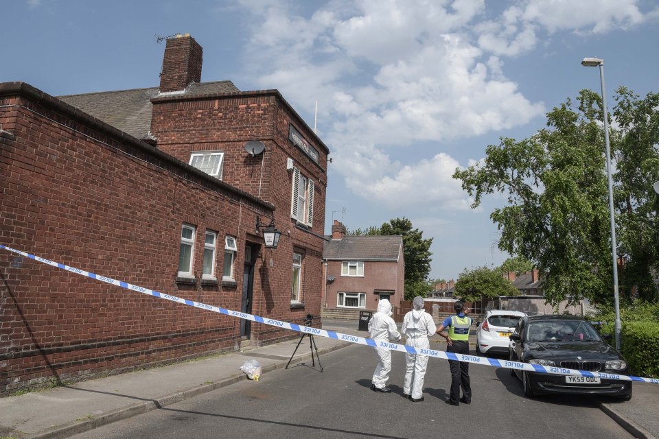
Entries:
[[616,218],[613,210],[613,182],[611,179],[611,150],[609,147],[609,121],[606,109],[606,92],[604,91],[604,60],[601,58],[583,58],[584,67],[599,67],[599,79],[602,84],[602,108],[604,112],[604,141],[606,144],[606,175],[609,180],[609,216],[611,220],[611,253],[613,259],[613,295],[616,309],[616,349],[620,350],[620,299],[618,298],[618,255],[616,254]]

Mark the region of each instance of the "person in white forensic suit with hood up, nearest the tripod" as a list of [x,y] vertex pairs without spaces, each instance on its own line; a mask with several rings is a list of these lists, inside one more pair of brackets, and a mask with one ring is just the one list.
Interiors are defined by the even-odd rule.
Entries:
[[[380,299],[378,303],[378,311],[373,314],[369,320],[369,333],[375,342],[389,342],[390,339],[396,342],[400,340],[400,333],[396,327],[396,322],[391,318],[391,303],[389,300]],[[378,366],[375,366],[373,372],[373,390],[385,389],[386,381],[389,379],[389,372],[391,372],[391,351],[380,347],[375,348],[375,355],[378,356]],[[389,390],[387,388],[389,392]]]

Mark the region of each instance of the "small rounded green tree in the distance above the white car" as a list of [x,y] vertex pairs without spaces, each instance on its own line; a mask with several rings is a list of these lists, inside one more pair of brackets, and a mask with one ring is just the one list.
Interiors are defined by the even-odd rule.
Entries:
[[465,270],[455,283],[454,296],[466,302],[475,302],[484,297],[518,296],[519,290],[501,276],[499,270],[487,266]]

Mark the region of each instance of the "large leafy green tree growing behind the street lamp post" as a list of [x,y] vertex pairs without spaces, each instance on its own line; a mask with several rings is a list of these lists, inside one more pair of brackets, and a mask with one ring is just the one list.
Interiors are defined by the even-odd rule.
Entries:
[[[625,267],[636,270],[633,276],[623,270],[621,294],[629,297],[631,285],[647,280],[644,297],[654,300],[656,284],[649,279],[659,268],[659,239],[656,197],[649,191],[659,175],[657,99],[649,94],[640,100],[618,89],[614,114],[620,128],[611,128],[610,135],[619,169],[614,197],[619,244]],[[507,206],[490,215],[501,230],[498,247],[538,268],[546,299],[554,304],[613,296],[601,97],[583,90],[577,102],[577,108],[570,99],[553,108],[547,128],[529,139],[502,138],[487,147],[481,163],[454,173],[474,197],[474,208],[483,195],[507,195]]]

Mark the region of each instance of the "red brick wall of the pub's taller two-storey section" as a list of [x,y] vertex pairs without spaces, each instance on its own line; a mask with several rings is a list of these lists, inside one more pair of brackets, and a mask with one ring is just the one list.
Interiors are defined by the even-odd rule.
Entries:
[[[281,230],[276,250],[262,249],[255,276],[253,313],[278,320],[303,323],[308,313],[320,315],[323,274],[323,235],[327,153],[325,146],[303,123],[277,91],[258,91],[205,95],[181,99],[152,99],[151,131],[159,150],[187,163],[195,151],[224,153],[222,181],[251,193],[276,206],[275,225]],[[288,127],[295,128],[321,152],[314,163],[288,140]],[[251,156],[244,150],[248,141],[262,141],[265,152]],[[292,158],[301,173],[316,184],[314,222],[307,228],[297,226],[290,217],[292,173],[286,161]],[[246,221],[255,223],[255,217]],[[262,217],[268,224],[268,218]],[[303,307],[291,307],[290,284],[293,252],[303,254]],[[260,294],[257,294],[259,292]],[[317,320],[319,322],[319,320]],[[255,329],[256,328],[256,329]],[[259,344],[289,337],[289,331],[275,327],[253,326]]]

